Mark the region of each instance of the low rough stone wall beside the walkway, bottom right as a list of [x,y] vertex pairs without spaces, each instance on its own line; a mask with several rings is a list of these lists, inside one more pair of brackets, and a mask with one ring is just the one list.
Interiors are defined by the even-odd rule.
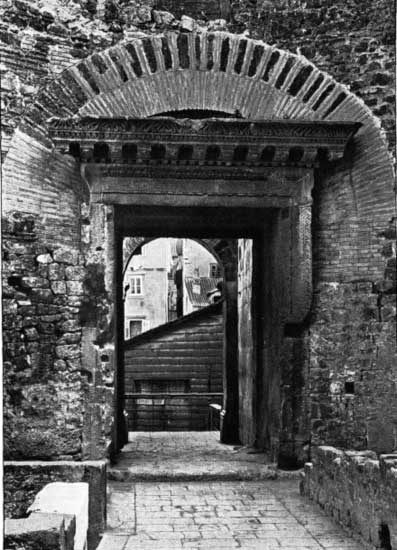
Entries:
[[397,455],[313,449],[301,491],[376,548],[397,545]]

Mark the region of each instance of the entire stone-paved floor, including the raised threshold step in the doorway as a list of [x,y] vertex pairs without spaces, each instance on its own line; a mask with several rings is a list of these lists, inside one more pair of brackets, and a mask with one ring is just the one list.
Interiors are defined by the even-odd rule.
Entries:
[[283,479],[263,454],[221,445],[218,432],[130,439],[110,471],[98,550],[368,548],[300,496],[296,474]]

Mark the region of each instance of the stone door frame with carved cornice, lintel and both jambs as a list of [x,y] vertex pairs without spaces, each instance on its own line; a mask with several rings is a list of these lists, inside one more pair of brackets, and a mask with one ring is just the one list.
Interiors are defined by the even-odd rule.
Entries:
[[[176,124],[169,117],[143,121],[88,119],[79,124],[74,121],[52,123],[51,135],[55,146],[61,152],[69,154],[77,151],[75,156],[81,163],[81,173],[90,192],[91,219],[101,218],[102,213],[99,226],[104,232],[101,233],[94,224],[93,235],[99,235],[105,243],[103,269],[108,274],[106,286],[110,291],[110,302],[113,303],[110,306],[113,309],[113,337],[108,334],[105,338],[114,348],[111,361],[115,395],[113,452],[117,452],[125,442],[125,436],[121,435],[124,432],[123,383],[122,377],[118,378],[117,375],[117,365],[121,364],[120,346],[117,344],[120,333],[117,312],[121,311],[118,289],[121,288],[119,279],[122,269],[117,271],[117,267],[122,266],[119,227],[123,218],[120,215],[122,209],[146,208],[146,218],[150,218],[149,212],[156,208],[168,208],[170,212],[188,208],[191,213],[200,208],[216,208],[216,212],[226,209],[226,218],[228,215],[230,218],[231,212],[242,209],[241,212],[249,213],[247,220],[251,220],[251,213],[256,208],[262,212],[263,218],[272,219],[268,235],[262,239],[264,248],[256,254],[258,257],[265,256],[271,267],[268,268],[266,262],[262,262],[262,275],[253,277],[253,250],[242,259],[243,263],[248,262],[251,272],[247,272],[250,279],[246,289],[248,297],[245,298],[245,305],[240,304],[241,311],[245,308],[245,322],[238,321],[239,342],[244,325],[252,324],[253,328],[246,334],[249,344],[238,345],[237,349],[240,439],[245,444],[267,449],[274,460],[278,455],[280,425],[280,396],[277,389],[280,373],[277,358],[282,327],[286,323],[302,322],[311,302],[310,223],[313,169],[319,163],[329,163],[331,158],[334,162],[335,159],[342,159],[346,144],[358,127],[357,124],[349,123],[258,122],[221,118],[185,120],[183,124]],[[123,157],[123,143],[129,145],[131,139],[134,140],[135,147],[140,149],[141,156],[138,159],[136,154],[132,160]],[[156,141],[153,145],[154,139]],[[244,158],[237,158],[236,151],[240,153],[242,146],[239,143],[242,139]],[[158,145],[159,141],[167,143],[168,149],[164,145]],[[216,145],[208,146],[208,142]],[[203,158],[206,151],[204,160],[186,163],[182,159],[183,162],[180,162],[179,153],[182,147],[186,147],[186,143],[190,144],[192,150],[198,151],[199,158]],[[102,155],[99,158],[98,145]],[[157,151],[160,147],[164,154],[161,158],[153,157],[153,150]],[[214,161],[208,155],[211,147],[218,150],[225,162]],[[271,154],[267,157],[269,152]],[[114,162],[112,158],[115,159]],[[121,158],[124,162],[120,163]],[[172,174],[170,170],[176,173]],[[105,210],[101,208],[108,209],[105,218]],[[272,215],[264,216],[264,212],[272,212]],[[135,214],[133,217],[135,219]],[[158,219],[147,221],[145,216],[141,219],[143,225],[136,225],[135,234],[146,236],[148,225],[155,227],[159,223]],[[162,227],[169,220],[172,225],[170,214],[162,220]],[[208,217],[206,221],[194,220],[193,215],[191,219],[185,218],[185,223],[193,221],[196,225],[198,223],[199,234],[195,234],[192,228],[189,231],[193,231],[193,236],[204,237],[201,231],[208,225]],[[246,237],[246,227],[254,222],[245,223],[248,225],[240,220],[234,226],[234,231],[242,238]],[[233,222],[231,225],[233,227]],[[219,228],[218,223],[216,226]],[[183,224],[179,223],[178,227],[180,236]],[[227,226],[225,230],[227,231]],[[149,231],[149,235],[153,235],[153,231]],[[154,235],[167,236],[158,231]],[[225,236],[220,235],[221,238]],[[285,265],[278,259],[278,246],[288,255],[286,272]],[[95,256],[96,251],[102,249],[95,237],[89,248],[88,256]],[[109,266],[116,266],[116,271]],[[294,276],[291,276],[292,272]],[[260,294],[252,291],[256,284],[254,278],[262,279],[258,288],[266,296],[266,305],[259,305],[255,313],[254,304],[261,300],[258,299]],[[266,288],[271,288],[271,292],[267,292]],[[267,315],[264,315],[264,309]],[[260,319],[257,324],[256,319]],[[271,319],[271,322],[266,319]],[[90,332],[83,349],[89,350],[94,342],[97,343],[98,339],[93,339]],[[228,369],[225,369],[225,373],[228,373]],[[227,378],[226,376],[226,386]],[[244,387],[241,385],[242,380],[245,380]],[[235,401],[237,399],[232,396],[232,402]],[[234,411],[229,418],[230,425],[235,424],[235,416]],[[226,426],[228,422],[226,421]]]

